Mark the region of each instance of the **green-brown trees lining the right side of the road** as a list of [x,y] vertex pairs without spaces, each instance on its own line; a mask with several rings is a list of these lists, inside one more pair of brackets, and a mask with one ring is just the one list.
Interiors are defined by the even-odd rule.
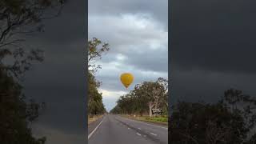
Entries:
[[153,108],[162,109],[163,114],[168,114],[168,81],[165,78],[137,84],[134,90],[118,99],[117,105],[110,113],[146,114],[151,117]]

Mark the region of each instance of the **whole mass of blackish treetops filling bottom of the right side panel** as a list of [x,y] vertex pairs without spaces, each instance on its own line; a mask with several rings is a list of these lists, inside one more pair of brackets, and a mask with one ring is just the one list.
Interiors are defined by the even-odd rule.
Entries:
[[256,99],[242,90],[226,90],[217,103],[178,102],[171,112],[170,143],[256,143]]

